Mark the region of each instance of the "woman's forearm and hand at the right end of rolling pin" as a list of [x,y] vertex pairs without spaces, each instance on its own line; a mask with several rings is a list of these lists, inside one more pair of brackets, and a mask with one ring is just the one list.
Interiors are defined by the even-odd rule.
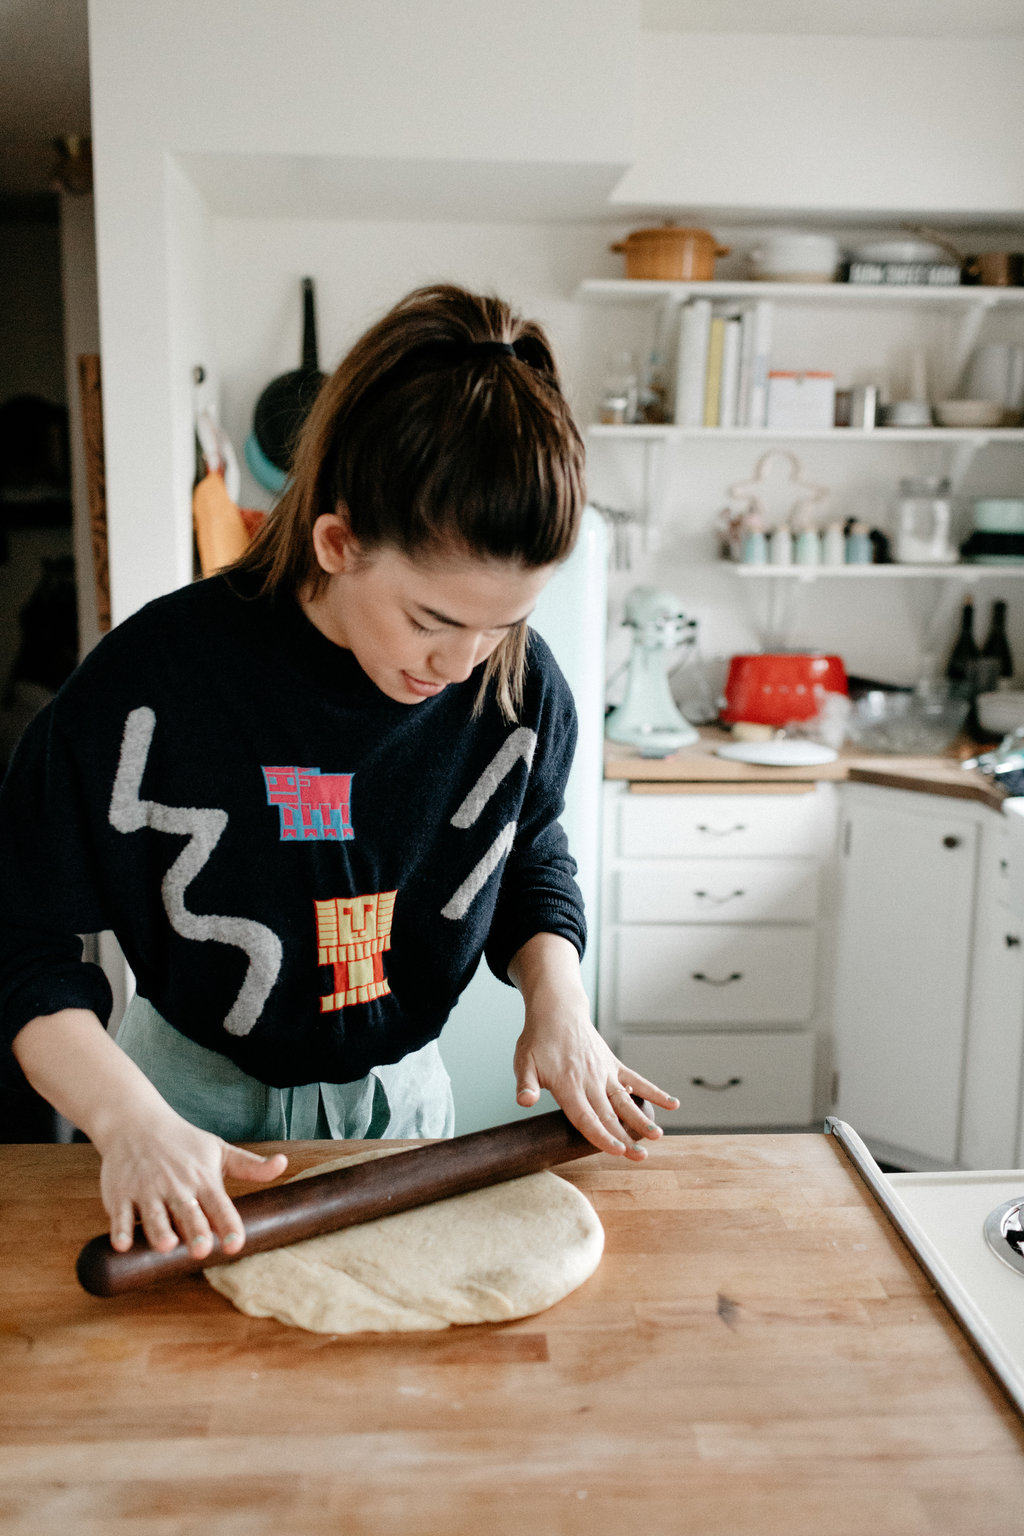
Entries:
[[662,1130],[629,1095],[663,1109],[679,1109],[679,1100],[623,1066],[597,1034],[576,946],[559,934],[534,934],[513,955],[508,975],[527,1005],[514,1057],[517,1101],[536,1104],[547,1087],[602,1152],[643,1160],[640,1141],[656,1141]]

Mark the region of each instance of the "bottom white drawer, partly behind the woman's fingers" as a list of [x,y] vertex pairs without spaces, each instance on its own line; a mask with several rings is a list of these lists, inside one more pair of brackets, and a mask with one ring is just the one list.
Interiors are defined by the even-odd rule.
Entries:
[[814,1117],[814,1035],[623,1035],[619,1055],[679,1109],[660,1126],[806,1126]]

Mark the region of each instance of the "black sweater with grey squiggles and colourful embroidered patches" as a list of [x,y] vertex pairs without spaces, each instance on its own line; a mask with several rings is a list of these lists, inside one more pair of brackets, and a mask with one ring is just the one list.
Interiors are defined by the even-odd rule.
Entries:
[[[112,929],[177,1029],[276,1087],[434,1040],[481,954],[585,925],[557,817],[573,697],[531,634],[516,723],[479,671],[382,694],[292,599],[215,576],[149,604],[26,731],[0,790],[0,1032],[111,992]],[[14,1063],[8,1057],[8,1068]]]

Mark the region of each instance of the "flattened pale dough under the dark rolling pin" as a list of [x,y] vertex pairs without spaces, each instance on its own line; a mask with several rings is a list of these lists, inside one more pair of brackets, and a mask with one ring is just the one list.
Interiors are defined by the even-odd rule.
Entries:
[[[353,1154],[298,1177],[399,1150]],[[603,1246],[586,1197],[556,1174],[531,1174],[250,1253],[206,1278],[253,1318],[312,1333],[391,1333],[543,1312],[593,1275]]]

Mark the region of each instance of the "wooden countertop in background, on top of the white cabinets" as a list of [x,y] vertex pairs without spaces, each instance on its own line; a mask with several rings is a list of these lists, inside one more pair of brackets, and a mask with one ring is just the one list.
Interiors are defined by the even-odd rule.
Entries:
[[[605,779],[626,779],[640,793],[706,793],[723,790],[765,790],[812,786],[821,782],[851,780],[877,783],[892,790],[913,790],[918,794],[943,794],[958,800],[978,800],[998,809],[1004,791],[976,770],[960,766],[976,748],[956,743],[950,754],[936,757],[895,757],[884,753],[858,753],[844,746],[835,762],[812,768],[760,768],[752,763],[729,762],[715,756],[715,746],[731,742],[729,731],[702,727],[700,740],[682,746],[671,757],[639,757],[622,742],[605,742]],[[963,746],[963,750],[961,750]],[[792,791],[791,791],[792,793]]]

